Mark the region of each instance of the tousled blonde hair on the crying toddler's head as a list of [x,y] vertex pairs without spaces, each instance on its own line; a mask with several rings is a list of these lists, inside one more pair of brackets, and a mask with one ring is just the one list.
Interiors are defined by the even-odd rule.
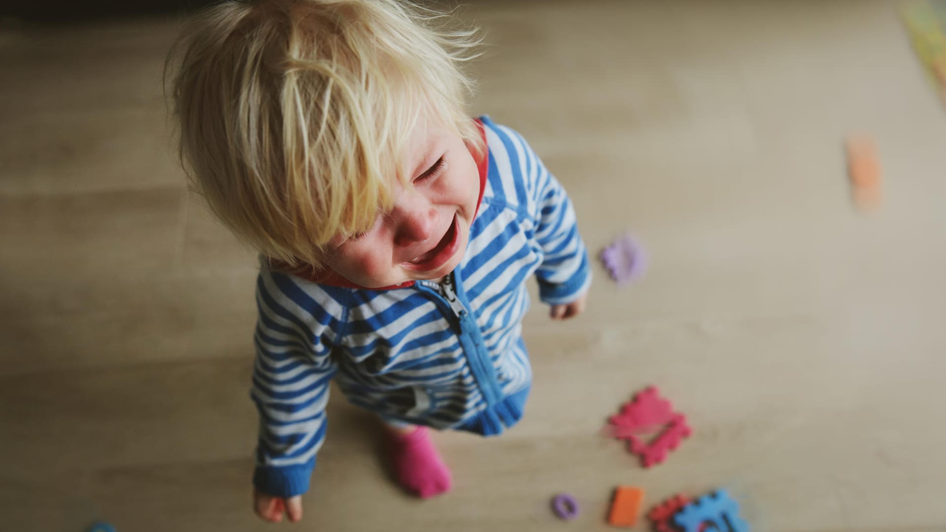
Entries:
[[190,184],[239,239],[290,267],[390,208],[391,178],[424,115],[477,151],[465,112],[475,29],[397,0],[229,1],[171,48],[180,157]]

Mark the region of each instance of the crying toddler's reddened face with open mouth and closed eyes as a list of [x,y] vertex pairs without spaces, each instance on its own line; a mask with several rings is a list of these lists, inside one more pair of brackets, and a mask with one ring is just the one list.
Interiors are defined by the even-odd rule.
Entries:
[[480,174],[460,135],[429,121],[412,134],[411,180],[394,180],[394,207],[354,238],[332,242],[328,266],[349,281],[380,288],[438,279],[464,257],[480,196]]

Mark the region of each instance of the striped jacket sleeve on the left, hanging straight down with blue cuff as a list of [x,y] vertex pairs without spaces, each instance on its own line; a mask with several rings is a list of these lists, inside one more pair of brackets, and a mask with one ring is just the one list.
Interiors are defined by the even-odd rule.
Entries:
[[[313,297],[289,275],[263,270],[256,282],[259,310],[251,397],[259,413],[253,482],[279,497],[305,493],[325,435],[328,385],[336,371],[331,350],[342,306]],[[325,295],[324,293],[322,293]]]

